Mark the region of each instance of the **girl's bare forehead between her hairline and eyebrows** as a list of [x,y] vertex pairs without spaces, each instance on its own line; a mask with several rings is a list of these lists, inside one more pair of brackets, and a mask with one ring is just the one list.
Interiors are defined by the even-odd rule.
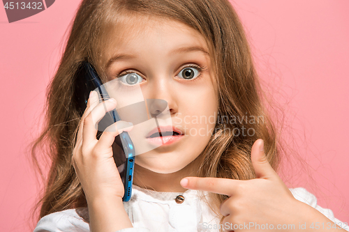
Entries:
[[118,53],[142,53],[146,50],[170,55],[181,47],[202,48],[209,52],[207,41],[195,29],[175,20],[160,17],[125,17],[117,22],[107,44],[107,59]]

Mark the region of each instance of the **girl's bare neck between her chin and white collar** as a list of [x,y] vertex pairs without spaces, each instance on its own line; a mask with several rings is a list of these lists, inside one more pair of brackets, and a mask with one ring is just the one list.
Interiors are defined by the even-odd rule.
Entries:
[[196,160],[179,171],[165,174],[156,173],[135,164],[133,185],[157,192],[185,192],[188,189],[181,187],[179,182],[186,176],[193,176],[193,170],[197,170],[195,167],[198,167]]

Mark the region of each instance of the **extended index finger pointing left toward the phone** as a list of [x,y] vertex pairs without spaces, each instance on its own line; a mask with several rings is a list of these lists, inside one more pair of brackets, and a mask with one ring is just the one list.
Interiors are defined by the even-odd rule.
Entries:
[[[186,181],[187,180],[187,181]],[[181,186],[191,190],[202,190],[232,196],[237,192],[239,185],[244,180],[211,177],[186,177],[181,179]]]

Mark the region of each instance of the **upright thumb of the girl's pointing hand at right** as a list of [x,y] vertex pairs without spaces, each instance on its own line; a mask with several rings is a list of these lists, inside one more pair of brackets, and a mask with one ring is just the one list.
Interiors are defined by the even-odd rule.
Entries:
[[263,139],[257,139],[251,149],[251,161],[255,169],[255,178],[273,179],[279,177],[267,160]]

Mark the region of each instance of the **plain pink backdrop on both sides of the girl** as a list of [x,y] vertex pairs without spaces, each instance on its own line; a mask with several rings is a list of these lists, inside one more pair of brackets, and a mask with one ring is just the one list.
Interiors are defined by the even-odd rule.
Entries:
[[[38,183],[27,144],[38,134],[46,86],[78,3],[56,1],[11,24],[0,5],[0,231],[31,231],[29,210]],[[279,99],[288,107],[295,144],[310,165],[305,175],[295,170],[287,175],[298,173],[296,186],[349,222],[349,1],[239,0],[234,6],[260,76],[285,96]]]

